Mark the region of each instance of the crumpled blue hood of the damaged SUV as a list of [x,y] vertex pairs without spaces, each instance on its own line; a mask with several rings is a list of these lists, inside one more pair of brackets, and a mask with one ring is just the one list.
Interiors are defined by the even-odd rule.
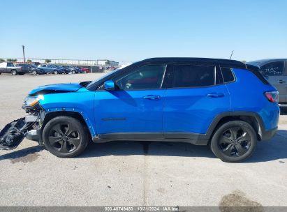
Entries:
[[38,86],[38,88],[30,91],[29,96],[36,96],[39,94],[48,93],[66,93],[78,91],[82,86],[79,83],[70,84],[47,84],[44,86]]

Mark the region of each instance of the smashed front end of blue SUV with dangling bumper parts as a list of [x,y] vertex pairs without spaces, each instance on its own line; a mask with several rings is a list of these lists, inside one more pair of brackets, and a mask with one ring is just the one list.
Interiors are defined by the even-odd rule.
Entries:
[[27,96],[24,100],[22,108],[29,114],[24,118],[17,119],[8,123],[0,131],[0,149],[15,149],[24,139],[37,141],[42,145],[41,127],[45,110],[39,104],[39,100],[43,100],[43,96]]

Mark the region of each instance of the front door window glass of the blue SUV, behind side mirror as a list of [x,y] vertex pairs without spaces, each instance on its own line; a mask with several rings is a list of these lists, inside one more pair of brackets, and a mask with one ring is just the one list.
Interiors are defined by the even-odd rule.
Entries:
[[165,65],[146,65],[114,79],[119,89],[160,89]]

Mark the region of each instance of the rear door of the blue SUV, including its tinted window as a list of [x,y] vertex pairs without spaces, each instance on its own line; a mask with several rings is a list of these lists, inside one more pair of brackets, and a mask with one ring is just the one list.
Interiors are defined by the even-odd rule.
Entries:
[[173,66],[163,108],[165,138],[197,139],[218,114],[227,111],[230,96],[218,67]]

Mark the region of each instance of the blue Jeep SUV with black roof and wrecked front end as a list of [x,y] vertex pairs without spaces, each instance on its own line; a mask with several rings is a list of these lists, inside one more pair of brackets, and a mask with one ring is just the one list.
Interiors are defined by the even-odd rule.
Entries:
[[277,102],[277,90],[240,61],[145,59],[94,82],[34,89],[23,105],[25,135],[63,158],[90,140],[131,140],[209,144],[238,162],[276,132]]

